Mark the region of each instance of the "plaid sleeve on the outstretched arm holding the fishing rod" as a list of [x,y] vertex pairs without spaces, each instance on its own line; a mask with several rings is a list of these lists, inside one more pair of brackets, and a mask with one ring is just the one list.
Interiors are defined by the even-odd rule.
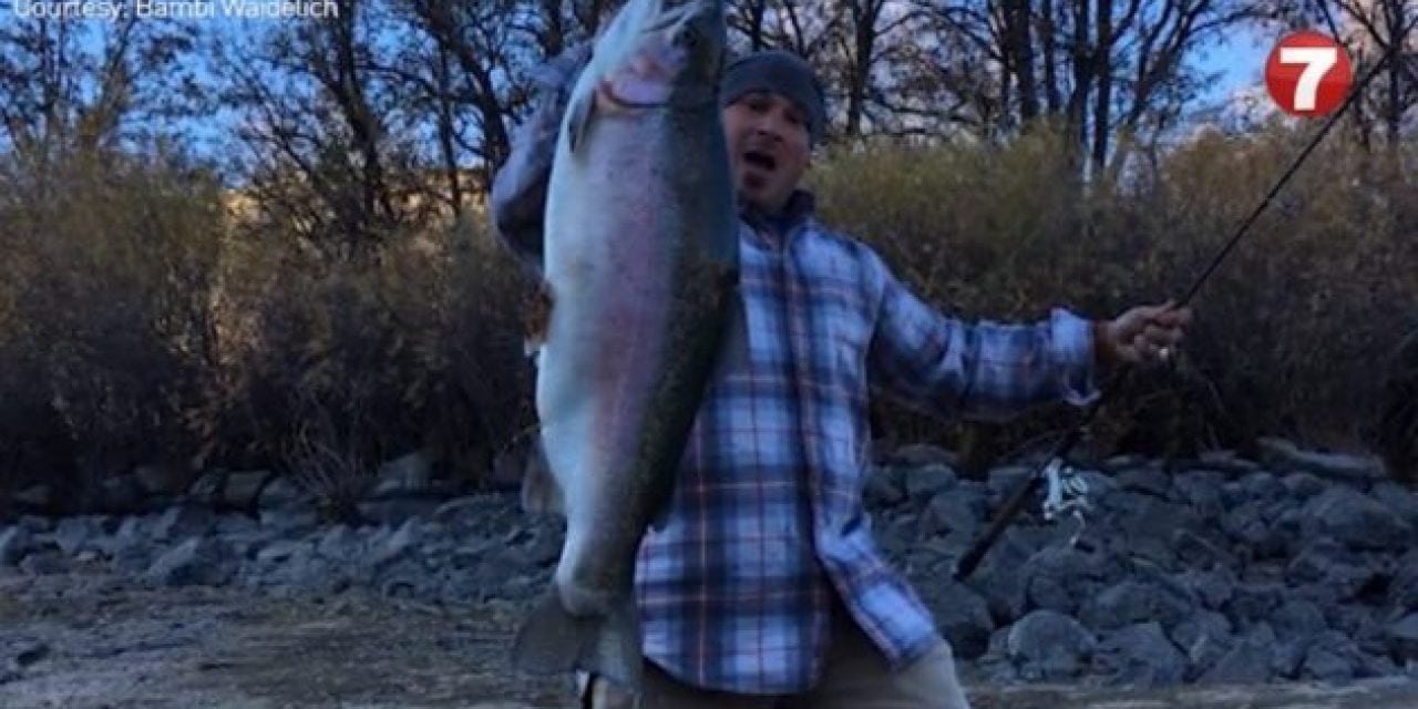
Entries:
[[1092,323],[1055,308],[1035,323],[966,323],[917,298],[871,254],[876,322],[873,383],[927,411],[1005,421],[1051,401],[1085,406],[1098,393]]

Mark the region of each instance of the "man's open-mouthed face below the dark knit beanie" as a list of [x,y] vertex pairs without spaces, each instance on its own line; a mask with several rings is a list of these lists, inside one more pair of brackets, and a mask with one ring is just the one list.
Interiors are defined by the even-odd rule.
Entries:
[[733,179],[754,207],[777,213],[811,157],[807,113],[778,94],[756,91],[723,109]]

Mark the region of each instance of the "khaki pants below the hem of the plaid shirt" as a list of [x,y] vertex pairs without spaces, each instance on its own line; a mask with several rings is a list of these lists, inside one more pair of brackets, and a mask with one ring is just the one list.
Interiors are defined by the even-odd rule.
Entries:
[[[642,709],[968,709],[950,645],[940,642],[900,672],[847,613],[834,614],[832,649],[821,682],[794,696],[727,695],[685,685],[645,662]],[[587,686],[590,683],[590,686]],[[634,702],[610,682],[579,682],[593,709],[632,709]],[[590,702],[586,702],[586,692]]]

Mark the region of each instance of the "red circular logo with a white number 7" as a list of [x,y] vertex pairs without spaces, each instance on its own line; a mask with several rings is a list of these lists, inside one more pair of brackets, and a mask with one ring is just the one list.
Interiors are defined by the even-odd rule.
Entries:
[[1354,84],[1349,52],[1320,33],[1288,34],[1265,62],[1271,99],[1295,116],[1323,116],[1344,102]]

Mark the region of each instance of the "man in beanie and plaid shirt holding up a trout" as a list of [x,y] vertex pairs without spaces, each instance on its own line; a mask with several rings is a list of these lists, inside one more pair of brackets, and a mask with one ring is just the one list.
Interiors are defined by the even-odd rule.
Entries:
[[[503,241],[540,261],[540,210],[564,88],[584,50],[553,61],[543,98],[493,184]],[[930,308],[871,248],[820,224],[798,187],[825,130],[798,57],[730,64],[720,86],[740,199],[744,370],[710,384],[668,520],[640,552],[648,709],[968,706],[947,641],[875,549],[862,508],[866,398],[876,386],[942,415],[1007,418],[1098,396],[1115,363],[1160,357],[1190,311],[1141,306],[1090,322],[966,325]],[[631,706],[583,678],[588,706]]]

